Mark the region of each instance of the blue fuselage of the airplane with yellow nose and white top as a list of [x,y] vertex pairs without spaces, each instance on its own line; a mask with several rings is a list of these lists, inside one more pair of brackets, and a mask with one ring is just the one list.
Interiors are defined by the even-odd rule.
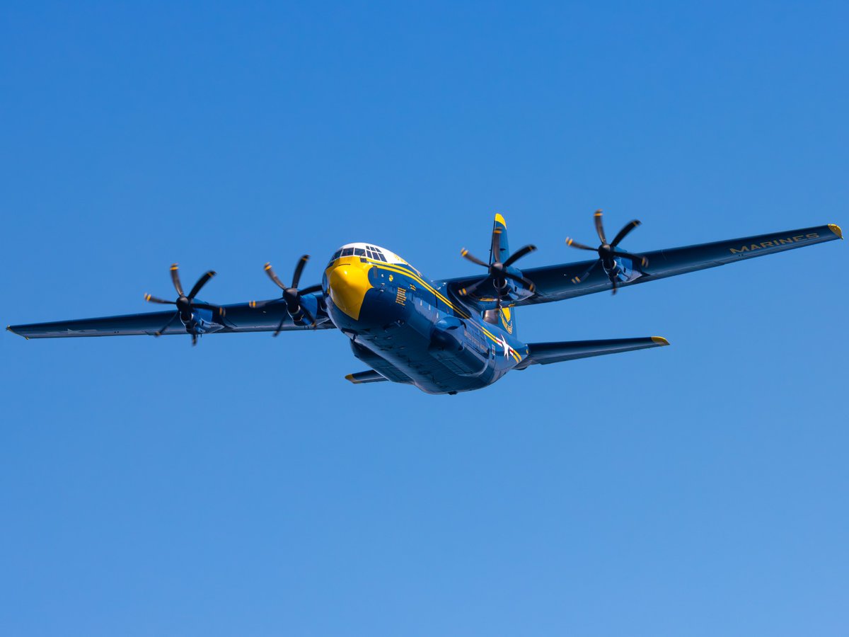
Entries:
[[[491,385],[520,364],[509,309],[489,323],[391,251],[349,244],[323,277],[327,312],[363,363],[428,393]],[[509,328],[509,330],[508,330]]]

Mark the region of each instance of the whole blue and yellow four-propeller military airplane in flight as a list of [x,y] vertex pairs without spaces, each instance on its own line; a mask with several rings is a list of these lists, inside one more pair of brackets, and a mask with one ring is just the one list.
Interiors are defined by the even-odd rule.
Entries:
[[175,300],[144,295],[148,302],[173,306],[164,312],[126,314],[9,325],[26,339],[77,336],[188,334],[195,345],[202,335],[238,332],[340,330],[354,356],[368,369],[346,376],[355,384],[396,382],[430,394],[481,389],[513,369],[548,365],[617,352],[663,347],[661,336],[597,341],[524,342],[516,330],[516,308],[617,290],[843,239],[834,223],[789,232],[759,234],[666,250],[633,253],[620,247],[638,220],[627,223],[608,241],[602,211],[594,214],[599,245],[567,239],[577,250],[594,252],[588,261],[520,270],[524,256],[537,248],[510,252],[507,224],[495,216],[489,258],[464,249],[469,262],[486,273],[430,280],[394,252],[370,243],[350,243],[330,256],[320,285],[299,288],[309,256],[301,256],[285,285],[270,263],[269,279],[281,296],[266,301],[216,305],[197,298],[215,276],[204,273],[185,294],[177,264],[171,266]]

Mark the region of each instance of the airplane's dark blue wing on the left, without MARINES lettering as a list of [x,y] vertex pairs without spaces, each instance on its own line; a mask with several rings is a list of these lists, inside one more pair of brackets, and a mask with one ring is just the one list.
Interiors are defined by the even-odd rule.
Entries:
[[[212,313],[209,324],[212,334],[233,334],[238,332],[273,332],[280,320],[284,319],[283,330],[311,330],[309,326],[294,324],[282,302],[269,303],[264,307],[251,307],[250,303],[236,303],[222,306],[224,312]],[[33,323],[9,325],[6,329],[14,334],[30,338],[65,338],[69,336],[133,336],[154,335],[156,331],[175,318],[175,310],[124,314],[100,318],[76,318],[52,323]],[[318,318],[316,329],[334,328],[329,320]],[[162,330],[162,335],[186,335],[183,324],[177,319]]]

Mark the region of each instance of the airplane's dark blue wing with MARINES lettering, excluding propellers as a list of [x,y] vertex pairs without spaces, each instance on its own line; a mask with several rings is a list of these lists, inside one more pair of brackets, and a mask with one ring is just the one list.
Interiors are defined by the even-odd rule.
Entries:
[[[752,237],[688,245],[681,248],[650,252],[641,251],[639,255],[645,256],[648,264],[643,266],[638,258],[633,260],[621,259],[620,263],[624,267],[626,280],[620,280],[617,287],[665,279],[677,274],[714,268],[726,263],[736,263],[756,256],[766,256],[836,239],[843,239],[841,228],[834,223],[829,223],[813,228],[758,234]],[[536,293],[525,299],[511,302],[511,305],[523,306],[562,301],[574,296],[610,290],[612,288],[610,279],[600,266],[594,268],[589,276],[573,282],[573,279],[581,278],[595,261],[595,259],[592,259],[522,270],[522,275],[536,285]],[[481,280],[480,276],[471,276],[462,279],[449,279],[444,283],[452,290],[460,290],[479,280]]]

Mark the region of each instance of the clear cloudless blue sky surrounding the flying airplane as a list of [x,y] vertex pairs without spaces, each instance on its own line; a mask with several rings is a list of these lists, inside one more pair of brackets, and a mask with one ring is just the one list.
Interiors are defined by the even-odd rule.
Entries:
[[[4,324],[849,225],[846,3],[4,3]],[[672,347],[456,397],[337,332],[0,338],[0,633],[843,635],[846,244],[518,313]]]

